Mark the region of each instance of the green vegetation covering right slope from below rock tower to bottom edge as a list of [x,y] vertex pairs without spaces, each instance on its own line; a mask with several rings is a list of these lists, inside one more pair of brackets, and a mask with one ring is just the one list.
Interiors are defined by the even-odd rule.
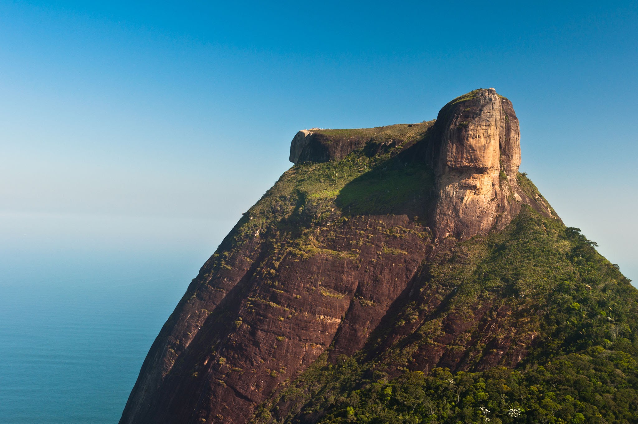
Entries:
[[[322,356],[278,399],[263,405],[255,422],[297,422],[300,416],[331,424],[486,418],[491,423],[638,422],[638,291],[595,245],[577,228],[524,207],[504,231],[461,243],[426,265],[422,298],[406,303],[392,328],[384,330],[406,334],[403,338],[383,348],[382,331],[354,356],[339,356],[335,363]],[[422,309],[435,287],[453,294],[445,307],[428,314]],[[412,355],[438,346],[442,321],[454,314],[471,317],[481,305],[492,305],[488,315],[515,311],[502,319],[495,339],[512,337],[515,345],[534,335],[523,362],[514,369],[497,365],[475,372],[410,369]],[[470,348],[476,356],[466,369],[491,354],[489,346],[467,341],[480,335],[471,327],[447,347]],[[278,416],[281,402],[292,404],[290,414]]]

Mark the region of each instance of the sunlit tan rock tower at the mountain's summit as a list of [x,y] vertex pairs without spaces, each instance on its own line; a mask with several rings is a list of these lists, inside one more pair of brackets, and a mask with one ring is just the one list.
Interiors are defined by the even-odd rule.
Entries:
[[433,132],[427,159],[437,179],[436,237],[466,239],[509,223],[525,196],[516,179],[521,135],[512,102],[494,89],[470,92],[441,109]]

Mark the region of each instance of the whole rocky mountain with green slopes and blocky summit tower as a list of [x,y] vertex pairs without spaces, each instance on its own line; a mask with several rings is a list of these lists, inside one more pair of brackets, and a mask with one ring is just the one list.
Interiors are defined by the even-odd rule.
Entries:
[[120,423],[638,422],[638,291],[518,172],[508,99],[299,131],[290,161]]

